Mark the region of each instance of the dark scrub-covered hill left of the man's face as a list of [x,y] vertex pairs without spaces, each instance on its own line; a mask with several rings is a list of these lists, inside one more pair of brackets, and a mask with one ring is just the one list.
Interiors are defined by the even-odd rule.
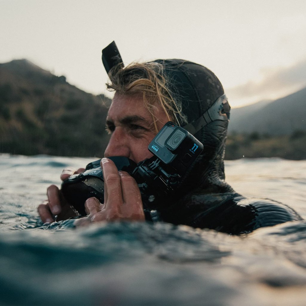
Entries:
[[0,64],[0,152],[102,157],[109,103],[27,60]]

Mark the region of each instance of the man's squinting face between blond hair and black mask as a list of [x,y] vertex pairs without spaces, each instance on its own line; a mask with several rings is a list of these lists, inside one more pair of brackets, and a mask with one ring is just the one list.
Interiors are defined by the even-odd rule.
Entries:
[[[169,121],[161,106],[155,110],[158,130]],[[105,157],[124,156],[138,163],[153,155],[148,145],[156,136],[153,118],[144,106],[142,95],[115,94],[106,118],[111,133]]]

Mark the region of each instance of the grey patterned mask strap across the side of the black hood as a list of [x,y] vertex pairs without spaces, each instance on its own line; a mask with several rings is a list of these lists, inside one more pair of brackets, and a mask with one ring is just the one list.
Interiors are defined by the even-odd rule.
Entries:
[[230,104],[226,95],[220,96],[200,118],[184,125],[183,128],[190,134],[195,135],[205,125],[215,120],[230,121]]

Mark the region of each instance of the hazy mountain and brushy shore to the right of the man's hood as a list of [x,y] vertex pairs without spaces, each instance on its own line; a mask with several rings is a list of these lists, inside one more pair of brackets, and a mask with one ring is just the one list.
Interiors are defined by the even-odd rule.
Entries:
[[231,109],[226,159],[306,159],[306,88]]

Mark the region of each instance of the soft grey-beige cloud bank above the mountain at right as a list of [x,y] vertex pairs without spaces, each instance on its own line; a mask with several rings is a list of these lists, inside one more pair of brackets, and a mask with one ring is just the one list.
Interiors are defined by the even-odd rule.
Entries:
[[306,59],[286,68],[262,69],[263,79],[260,82],[248,81],[245,84],[226,90],[236,99],[277,95],[290,88],[306,86]]

